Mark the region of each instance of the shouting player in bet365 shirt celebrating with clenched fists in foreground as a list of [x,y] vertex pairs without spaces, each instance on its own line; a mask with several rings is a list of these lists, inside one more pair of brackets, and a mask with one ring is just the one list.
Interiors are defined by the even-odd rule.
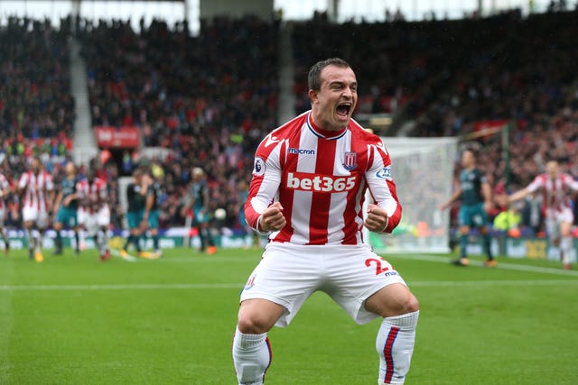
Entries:
[[[241,292],[232,348],[238,383],[263,383],[271,360],[267,332],[288,325],[317,290],[359,324],[383,317],[378,380],[403,383],[419,304],[362,239],[363,226],[391,233],[401,218],[391,162],[378,136],[350,119],[358,96],[347,62],[313,65],[309,88],[312,110],[268,134],[256,150],[245,213],[249,225],[271,233]],[[376,204],[363,213],[367,188]]]

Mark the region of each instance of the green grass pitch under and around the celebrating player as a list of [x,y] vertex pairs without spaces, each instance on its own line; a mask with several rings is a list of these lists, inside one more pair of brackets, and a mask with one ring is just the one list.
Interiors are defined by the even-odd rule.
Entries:
[[[578,383],[578,271],[499,259],[386,255],[420,300],[406,384]],[[258,250],[0,255],[0,384],[234,384],[238,294]],[[374,384],[379,321],[356,325],[316,293],[269,334],[266,383]]]

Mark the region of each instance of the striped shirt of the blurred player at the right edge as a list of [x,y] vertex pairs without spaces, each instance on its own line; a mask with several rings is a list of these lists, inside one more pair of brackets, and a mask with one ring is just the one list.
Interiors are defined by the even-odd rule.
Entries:
[[542,190],[542,211],[546,216],[555,215],[564,209],[572,208],[572,203],[567,197],[569,190],[578,191],[578,181],[571,175],[559,173],[555,179],[551,179],[548,174],[538,175],[532,183],[527,186],[531,193],[538,189]]

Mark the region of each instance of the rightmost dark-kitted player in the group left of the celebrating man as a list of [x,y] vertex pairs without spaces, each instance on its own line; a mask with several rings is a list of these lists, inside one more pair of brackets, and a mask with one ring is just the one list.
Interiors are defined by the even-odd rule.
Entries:
[[205,171],[200,167],[192,169],[191,193],[189,201],[182,208],[182,215],[185,216],[191,207],[193,225],[199,230],[200,252],[204,252],[207,249],[208,254],[214,254],[217,252],[217,247],[209,231],[209,186],[207,185],[207,179],[205,179]]

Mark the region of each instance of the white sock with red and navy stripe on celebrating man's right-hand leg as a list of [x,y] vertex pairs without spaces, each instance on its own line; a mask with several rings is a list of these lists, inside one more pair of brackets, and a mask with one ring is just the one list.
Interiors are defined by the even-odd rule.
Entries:
[[388,316],[379,327],[376,348],[379,354],[380,384],[403,384],[414,353],[415,327],[419,311]]

